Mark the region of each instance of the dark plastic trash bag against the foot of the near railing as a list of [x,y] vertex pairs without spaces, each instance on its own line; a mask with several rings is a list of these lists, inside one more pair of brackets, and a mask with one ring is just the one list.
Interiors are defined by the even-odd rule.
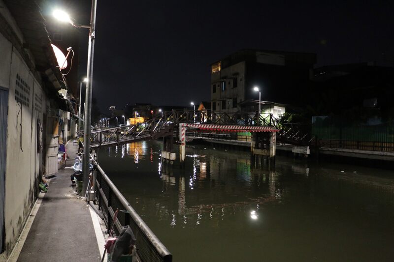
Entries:
[[135,245],[135,235],[132,233],[130,226],[123,227],[115,242],[115,247],[112,251],[111,262],[117,262],[122,255],[131,254],[131,248]]

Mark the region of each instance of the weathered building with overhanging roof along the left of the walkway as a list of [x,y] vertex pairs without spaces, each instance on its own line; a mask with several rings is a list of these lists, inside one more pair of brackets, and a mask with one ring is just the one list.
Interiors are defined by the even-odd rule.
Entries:
[[43,175],[58,170],[59,139],[75,122],[35,1],[0,0],[0,261],[29,217]]

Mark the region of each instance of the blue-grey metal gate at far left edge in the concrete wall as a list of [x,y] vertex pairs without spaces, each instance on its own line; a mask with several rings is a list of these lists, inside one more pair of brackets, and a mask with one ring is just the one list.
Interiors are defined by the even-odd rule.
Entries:
[[4,250],[5,166],[7,152],[8,90],[0,87],[0,253]]

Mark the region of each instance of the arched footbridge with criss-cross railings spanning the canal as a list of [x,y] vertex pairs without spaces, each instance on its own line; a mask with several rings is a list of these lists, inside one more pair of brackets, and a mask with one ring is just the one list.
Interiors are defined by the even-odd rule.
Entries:
[[290,144],[310,144],[314,138],[304,135],[292,125],[281,124],[272,114],[180,111],[162,112],[134,125],[91,132],[91,147],[121,145],[173,135],[180,125],[219,132],[277,132],[277,140]]

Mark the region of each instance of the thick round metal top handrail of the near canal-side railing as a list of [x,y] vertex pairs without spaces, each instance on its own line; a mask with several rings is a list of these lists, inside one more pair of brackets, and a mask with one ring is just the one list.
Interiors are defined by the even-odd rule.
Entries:
[[[141,232],[147,237],[150,244],[155,248],[156,252],[160,255],[163,262],[172,262],[172,254],[168,251],[168,249],[164,246],[164,244],[159,240],[159,238],[152,232],[152,230],[145,224],[142,218],[137,214],[137,212],[131,207],[131,204],[126,200],[126,198],[122,195],[122,193],[118,190],[118,188],[114,185],[114,183],[109,179],[109,177],[105,174],[104,170],[97,164],[97,171],[99,171],[101,179],[103,179],[106,185],[111,190],[112,194],[117,198],[120,204],[122,204],[126,213],[130,214],[131,219],[135,222],[137,227],[141,230]],[[96,176],[97,177],[97,176]],[[102,182],[101,182],[102,184]],[[96,178],[97,192],[100,194],[100,199],[106,200],[106,207],[109,209],[110,204],[106,199],[105,194],[101,189],[101,185]],[[113,219],[113,212],[109,212],[111,215],[111,220]],[[118,227],[118,231],[122,230],[122,225],[120,223],[115,223]],[[137,247],[138,248],[138,247]],[[137,252],[138,254],[138,252]]]

